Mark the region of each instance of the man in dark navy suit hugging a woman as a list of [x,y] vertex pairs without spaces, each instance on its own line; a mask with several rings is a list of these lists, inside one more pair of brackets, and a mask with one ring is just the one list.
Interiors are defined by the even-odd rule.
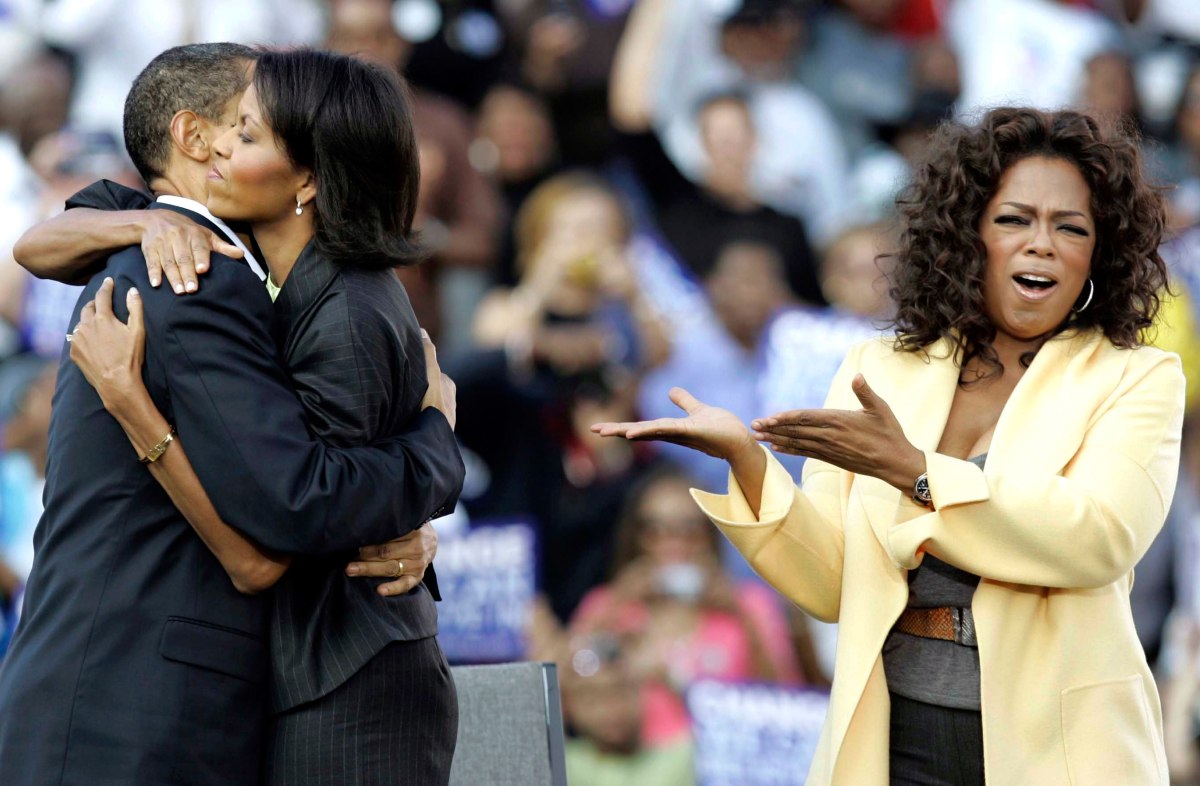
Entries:
[[[164,54],[131,90],[126,145],[154,162],[151,190],[169,197],[155,209],[224,234],[203,208],[205,176],[253,53]],[[131,286],[143,293],[145,384],[227,523],[268,548],[317,554],[384,542],[454,503],[462,462],[436,409],[378,448],[308,436],[246,262],[214,257],[199,292],[176,298],[149,287],[144,256],[126,248],[72,324],[104,277],[119,308]],[[66,353],[36,548],[0,668],[5,786],[257,784],[270,604],[234,589]]]

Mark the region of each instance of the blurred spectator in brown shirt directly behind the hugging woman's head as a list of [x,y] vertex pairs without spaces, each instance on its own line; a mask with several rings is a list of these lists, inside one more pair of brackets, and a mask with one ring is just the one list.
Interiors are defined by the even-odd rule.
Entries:
[[[430,7],[437,10],[434,4]],[[412,0],[332,0],[325,46],[408,73],[414,49],[397,25],[413,24]],[[406,22],[407,20],[407,22]],[[470,323],[493,277],[499,200],[472,166],[472,120],[452,101],[413,90],[413,122],[421,157],[414,226],[432,258],[398,271],[421,325],[443,356],[470,343]]]

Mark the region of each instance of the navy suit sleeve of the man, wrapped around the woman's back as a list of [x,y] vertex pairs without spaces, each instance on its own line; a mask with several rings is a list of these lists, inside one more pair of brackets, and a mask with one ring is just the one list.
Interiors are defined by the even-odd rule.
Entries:
[[457,494],[462,458],[445,418],[422,412],[403,436],[334,449],[305,426],[275,359],[271,304],[242,269],[216,266],[174,298],[162,346],[176,428],[212,503],[263,546],[319,554],[384,542]]

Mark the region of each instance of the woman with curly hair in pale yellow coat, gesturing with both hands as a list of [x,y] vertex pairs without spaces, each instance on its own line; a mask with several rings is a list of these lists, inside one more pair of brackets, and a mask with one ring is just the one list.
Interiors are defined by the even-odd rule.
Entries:
[[[594,430],[728,460],[728,494],[696,502],[839,623],[810,785],[1165,786],[1128,598],[1183,415],[1178,358],[1141,346],[1162,202],[1136,145],[1072,112],[947,124],[917,173],[896,335],[848,354],[824,409],[750,431],[676,389],[686,416]],[[809,457],[799,488],[756,440]],[[938,590],[966,598],[914,602]]]

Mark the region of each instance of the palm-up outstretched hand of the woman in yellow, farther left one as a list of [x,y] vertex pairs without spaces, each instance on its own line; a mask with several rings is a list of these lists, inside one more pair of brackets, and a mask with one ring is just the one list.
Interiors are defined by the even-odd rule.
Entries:
[[748,445],[754,446],[750,430],[733,413],[710,407],[683,388],[672,388],[668,395],[685,416],[601,422],[594,424],[592,431],[601,437],[668,442],[724,460],[732,458]]

